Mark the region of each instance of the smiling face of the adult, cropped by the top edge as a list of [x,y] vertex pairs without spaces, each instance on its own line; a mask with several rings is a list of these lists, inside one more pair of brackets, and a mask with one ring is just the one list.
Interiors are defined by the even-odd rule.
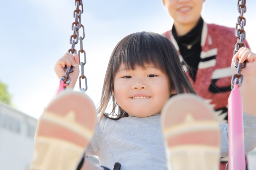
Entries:
[[204,0],[163,0],[174,22],[190,24],[200,18]]

